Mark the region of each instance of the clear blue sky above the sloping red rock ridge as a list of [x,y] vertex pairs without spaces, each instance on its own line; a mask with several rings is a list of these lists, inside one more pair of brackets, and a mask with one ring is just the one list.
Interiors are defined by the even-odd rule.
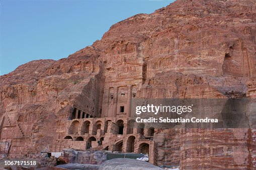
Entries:
[[100,40],[109,28],[174,0],[2,0],[0,75],[32,60],[67,57]]

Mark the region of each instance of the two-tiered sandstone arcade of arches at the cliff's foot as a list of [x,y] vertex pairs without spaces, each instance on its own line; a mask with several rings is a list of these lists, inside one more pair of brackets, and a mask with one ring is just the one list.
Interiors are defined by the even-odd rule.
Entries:
[[144,124],[140,128],[130,128],[133,124],[134,120],[124,117],[69,120],[65,136],[57,142],[61,147],[55,147],[54,151],[61,151],[69,146],[75,149],[97,148],[126,153],[148,153],[151,155],[149,161],[155,162],[155,157],[152,157],[155,152],[152,140],[155,129],[144,128]]

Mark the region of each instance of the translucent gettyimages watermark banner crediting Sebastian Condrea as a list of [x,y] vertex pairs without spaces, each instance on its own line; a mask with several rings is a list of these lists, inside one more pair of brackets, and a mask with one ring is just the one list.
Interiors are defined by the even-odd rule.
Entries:
[[256,128],[256,100],[133,99],[131,128]]

